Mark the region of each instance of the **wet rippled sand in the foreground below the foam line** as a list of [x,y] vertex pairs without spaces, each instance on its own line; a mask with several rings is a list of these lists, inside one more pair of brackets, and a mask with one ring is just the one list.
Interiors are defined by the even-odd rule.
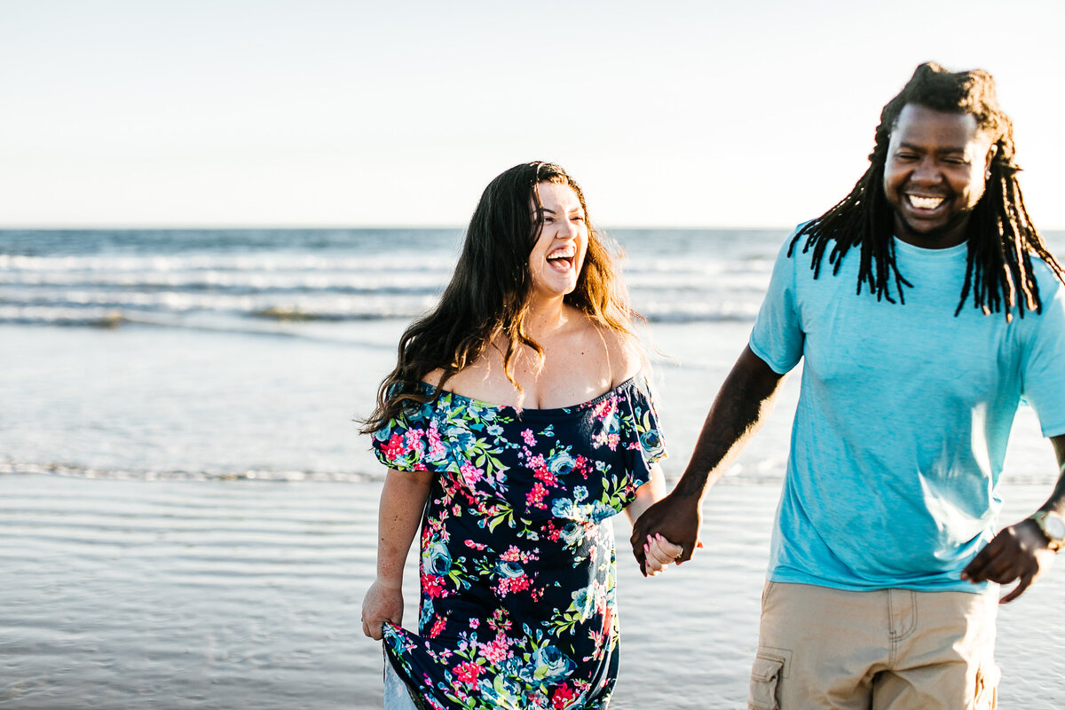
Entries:
[[[380,648],[359,625],[379,490],[0,476],[0,708],[379,708]],[[1048,493],[1005,484],[1002,519]],[[746,707],[777,494],[718,485],[706,548],[659,577],[619,549],[612,708]],[[1002,609],[1004,710],[1065,707],[1063,582],[1060,565]]]

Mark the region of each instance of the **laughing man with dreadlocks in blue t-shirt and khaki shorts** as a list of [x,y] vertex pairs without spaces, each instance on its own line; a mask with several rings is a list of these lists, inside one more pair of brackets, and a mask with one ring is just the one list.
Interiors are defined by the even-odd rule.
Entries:
[[917,68],[870,167],[785,244],[676,489],[634,526],[699,545],[701,503],[804,360],[749,708],[994,708],[996,588],[1065,542],[1065,473],[994,534],[1021,398],[1065,472],[1065,273],[1025,209],[990,75]]

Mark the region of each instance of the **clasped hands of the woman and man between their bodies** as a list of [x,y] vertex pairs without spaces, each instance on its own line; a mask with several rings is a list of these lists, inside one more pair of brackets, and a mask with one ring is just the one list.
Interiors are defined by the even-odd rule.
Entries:
[[646,577],[658,574],[670,562],[681,564],[691,559],[699,542],[703,513],[698,497],[670,494],[651,506],[633,524],[633,555]]

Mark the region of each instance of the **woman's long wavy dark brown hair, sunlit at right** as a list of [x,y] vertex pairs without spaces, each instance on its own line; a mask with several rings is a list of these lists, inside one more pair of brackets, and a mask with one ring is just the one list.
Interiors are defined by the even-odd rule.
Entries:
[[386,426],[405,406],[427,401],[420,384],[435,369],[443,370],[439,396],[448,379],[476,362],[497,340],[507,343],[503,359],[507,379],[521,390],[513,376],[521,347],[543,357],[543,348],[529,336],[525,324],[532,295],[528,260],[543,229],[539,209],[543,205],[536,188],[541,182],[571,187],[585,211],[588,250],[577,286],[564,302],[593,323],[633,337],[632,323],[639,315],[628,306],[610,252],[589,218],[580,186],[553,163],[515,165],[485,188],[450,283],[437,307],[404,331],[396,366],[381,382],[373,413],[362,420],[363,433]]

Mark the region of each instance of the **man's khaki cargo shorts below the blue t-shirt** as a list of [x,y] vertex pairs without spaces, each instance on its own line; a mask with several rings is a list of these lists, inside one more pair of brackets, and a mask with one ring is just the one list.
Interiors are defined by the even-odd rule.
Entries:
[[749,710],[994,710],[993,592],[767,582]]

